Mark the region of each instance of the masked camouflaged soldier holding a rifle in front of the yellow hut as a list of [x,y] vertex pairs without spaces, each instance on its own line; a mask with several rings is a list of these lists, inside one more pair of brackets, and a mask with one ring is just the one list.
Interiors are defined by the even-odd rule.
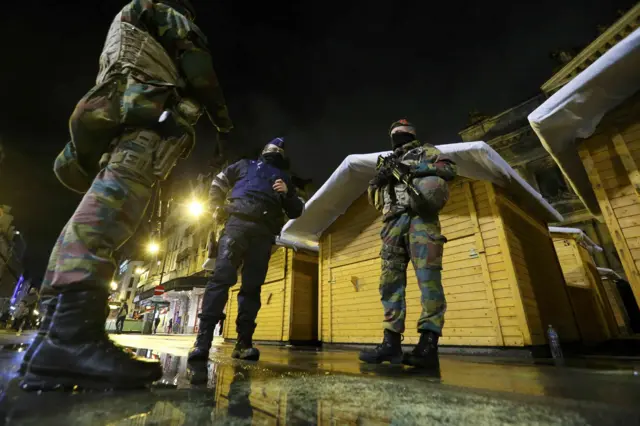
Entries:
[[[427,204],[441,208],[448,198],[446,182],[456,177],[455,164],[433,145],[420,143],[413,125],[400,120],[391,125],[393,159],[412,178],[435,180],[444,188],[427,192]],[[439,179],[427,178],[437,177]],[[414,180],[414,182],[420,179]],[[438,184],[440,182],[440,184]],[[435,195],[434,195],[435,194]],[[366,363],[389,361],[416,367],[438,365],[438,338],[442,333],[446,302],[441,282],[442,248],[446,239],[440,232],[436,209],[420,209],[406,184],[386,168],[380,168],[369,183],[369,202],[383,213],[382,274],[380,295],[384,308],[384,340],[373,350],[363,350],[360,360]],[[433,199],[433,198],[441,199]],[[425,213],[426,212],[426,213]],[[401,337],[405,328],[407,264],[413,263],[420,286],[422,313],[418,319],[420,341],[413,352],[404,356]]]

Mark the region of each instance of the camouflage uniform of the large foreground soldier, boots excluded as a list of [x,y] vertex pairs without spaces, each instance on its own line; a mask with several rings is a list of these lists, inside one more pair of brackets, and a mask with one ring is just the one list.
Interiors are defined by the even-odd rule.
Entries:
[[[220,132],[233,128],[204,35],[165,4],[129,3],[113,21],[96,86],[76,106],[71,142],[56,159],[63,183],[87,193],[53,248],[44,287],[111,280],[113,252],[138,227],[153,185],[190,152],[201,106]],[[165,110],[173,121],[166,130],[158,126]],[[168,164],[158,165],[158,151],[172,148]]]

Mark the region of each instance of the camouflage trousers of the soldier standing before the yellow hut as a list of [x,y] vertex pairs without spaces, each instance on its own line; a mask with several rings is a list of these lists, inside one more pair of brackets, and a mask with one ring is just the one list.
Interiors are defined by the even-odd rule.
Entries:
[[382,238],[380,296],[384,308],[383,327],[404,333],[405,292],[409,260],[418,279],[422,312],[418,332],[442,333],[447,304],[442,289],[442,249],[444,237],[439,225],[420,216],[403,213],[385,222]]

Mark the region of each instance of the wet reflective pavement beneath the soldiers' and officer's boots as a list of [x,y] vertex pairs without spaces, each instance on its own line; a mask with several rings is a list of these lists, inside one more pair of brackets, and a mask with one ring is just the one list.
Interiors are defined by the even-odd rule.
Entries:
[[27,393],[19,362],[32,335],[0,333],[0,421],[7,425],[640,425],[640,362],[442,356],[439,377],[365,366],[357,352],[262,345],[258,363],[219,344],[189,368],[190,336],[114,336],[159,359],[149,390]]

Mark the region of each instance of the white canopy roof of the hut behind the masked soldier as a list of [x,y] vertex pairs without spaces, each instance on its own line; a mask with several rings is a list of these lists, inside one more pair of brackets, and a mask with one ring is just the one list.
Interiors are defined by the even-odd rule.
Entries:
[[[562,220],[560,213],[486,143],[455,143],[439,145],[438,149],[455,161],[460,176],[487,180],[505,188],[548,222]],[[378,156],[388,153],[390,151],[353,154],[345,158],[307,202],[302,216],[287,222],[282,229],[282,240],[317,247],[322,233],[367,190],[375,175]]]

